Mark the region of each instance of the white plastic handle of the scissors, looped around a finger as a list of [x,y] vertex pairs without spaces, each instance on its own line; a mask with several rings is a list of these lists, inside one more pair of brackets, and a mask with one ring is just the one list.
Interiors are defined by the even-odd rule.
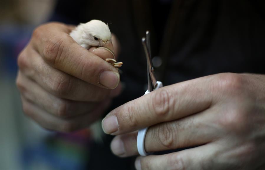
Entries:
[[[157,90],[159,88],[163,87],[162,82],[157,81],[157,87],[154,90]],[[150,93],[148,90],[144,93],[144,95]],[[139,129],[137,134],[137,149],[141,156],[147,156],[148,153],[145,151],[144,148],[144,141],[145,141],[145,135],[147,133],[148,127]]]

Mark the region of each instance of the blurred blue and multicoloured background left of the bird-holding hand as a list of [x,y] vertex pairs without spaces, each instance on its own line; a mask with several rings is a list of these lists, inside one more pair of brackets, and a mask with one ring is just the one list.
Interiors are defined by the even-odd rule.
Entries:
[[49,132],[22,111],[15,85],[17,56],[35,27],[49,20],[56,1],[0,1],[0,169],[83,169],[89,131]]

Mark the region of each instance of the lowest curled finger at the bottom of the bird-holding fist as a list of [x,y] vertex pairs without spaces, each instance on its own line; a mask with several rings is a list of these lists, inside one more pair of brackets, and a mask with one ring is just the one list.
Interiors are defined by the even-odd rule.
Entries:
[[60,132],[72,132],[79,130],[85,127],[88,127],[91,123],[96,121],[103,110],[109,104],[109,101],[101,103],[101,107],[96,107],[96,109],[90,114],[84,114],[76,116],[74,118],[59,118],[52,114],[47,113],[45,110],[39,108],[34,103],[31,103],[29,100],[22,98],[23,111],[24,113],[40,124],[42,127],[50,130],[60,131]]

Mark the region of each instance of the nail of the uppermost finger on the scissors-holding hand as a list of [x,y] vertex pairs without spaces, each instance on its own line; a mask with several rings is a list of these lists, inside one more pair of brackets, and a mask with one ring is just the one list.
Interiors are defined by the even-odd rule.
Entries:
[[119,129],[118,119],[116,116],[108,116],[102,120],[102,129],[106,134],[111,134]]

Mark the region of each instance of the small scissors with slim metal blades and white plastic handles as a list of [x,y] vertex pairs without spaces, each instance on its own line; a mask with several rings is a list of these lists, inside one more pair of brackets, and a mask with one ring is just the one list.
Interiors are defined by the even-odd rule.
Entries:
[[[157,81],[154,75],[154,67],[151,58],[151,47],[150,47],[150,32],[146,31],[146,37],[142,38],[142,44],[144,46],[144,53],[147,59],[147,81],[148,81],[148,89],[144,93],[144,95],[152,92],[153,90],[157,90],[163,87],[162,82]],[[144,148],[144,140],[145,135],[148,130],[148,127],[139,129],[137,134],[137,149],[141,156],[147,156],[148,153]]]

